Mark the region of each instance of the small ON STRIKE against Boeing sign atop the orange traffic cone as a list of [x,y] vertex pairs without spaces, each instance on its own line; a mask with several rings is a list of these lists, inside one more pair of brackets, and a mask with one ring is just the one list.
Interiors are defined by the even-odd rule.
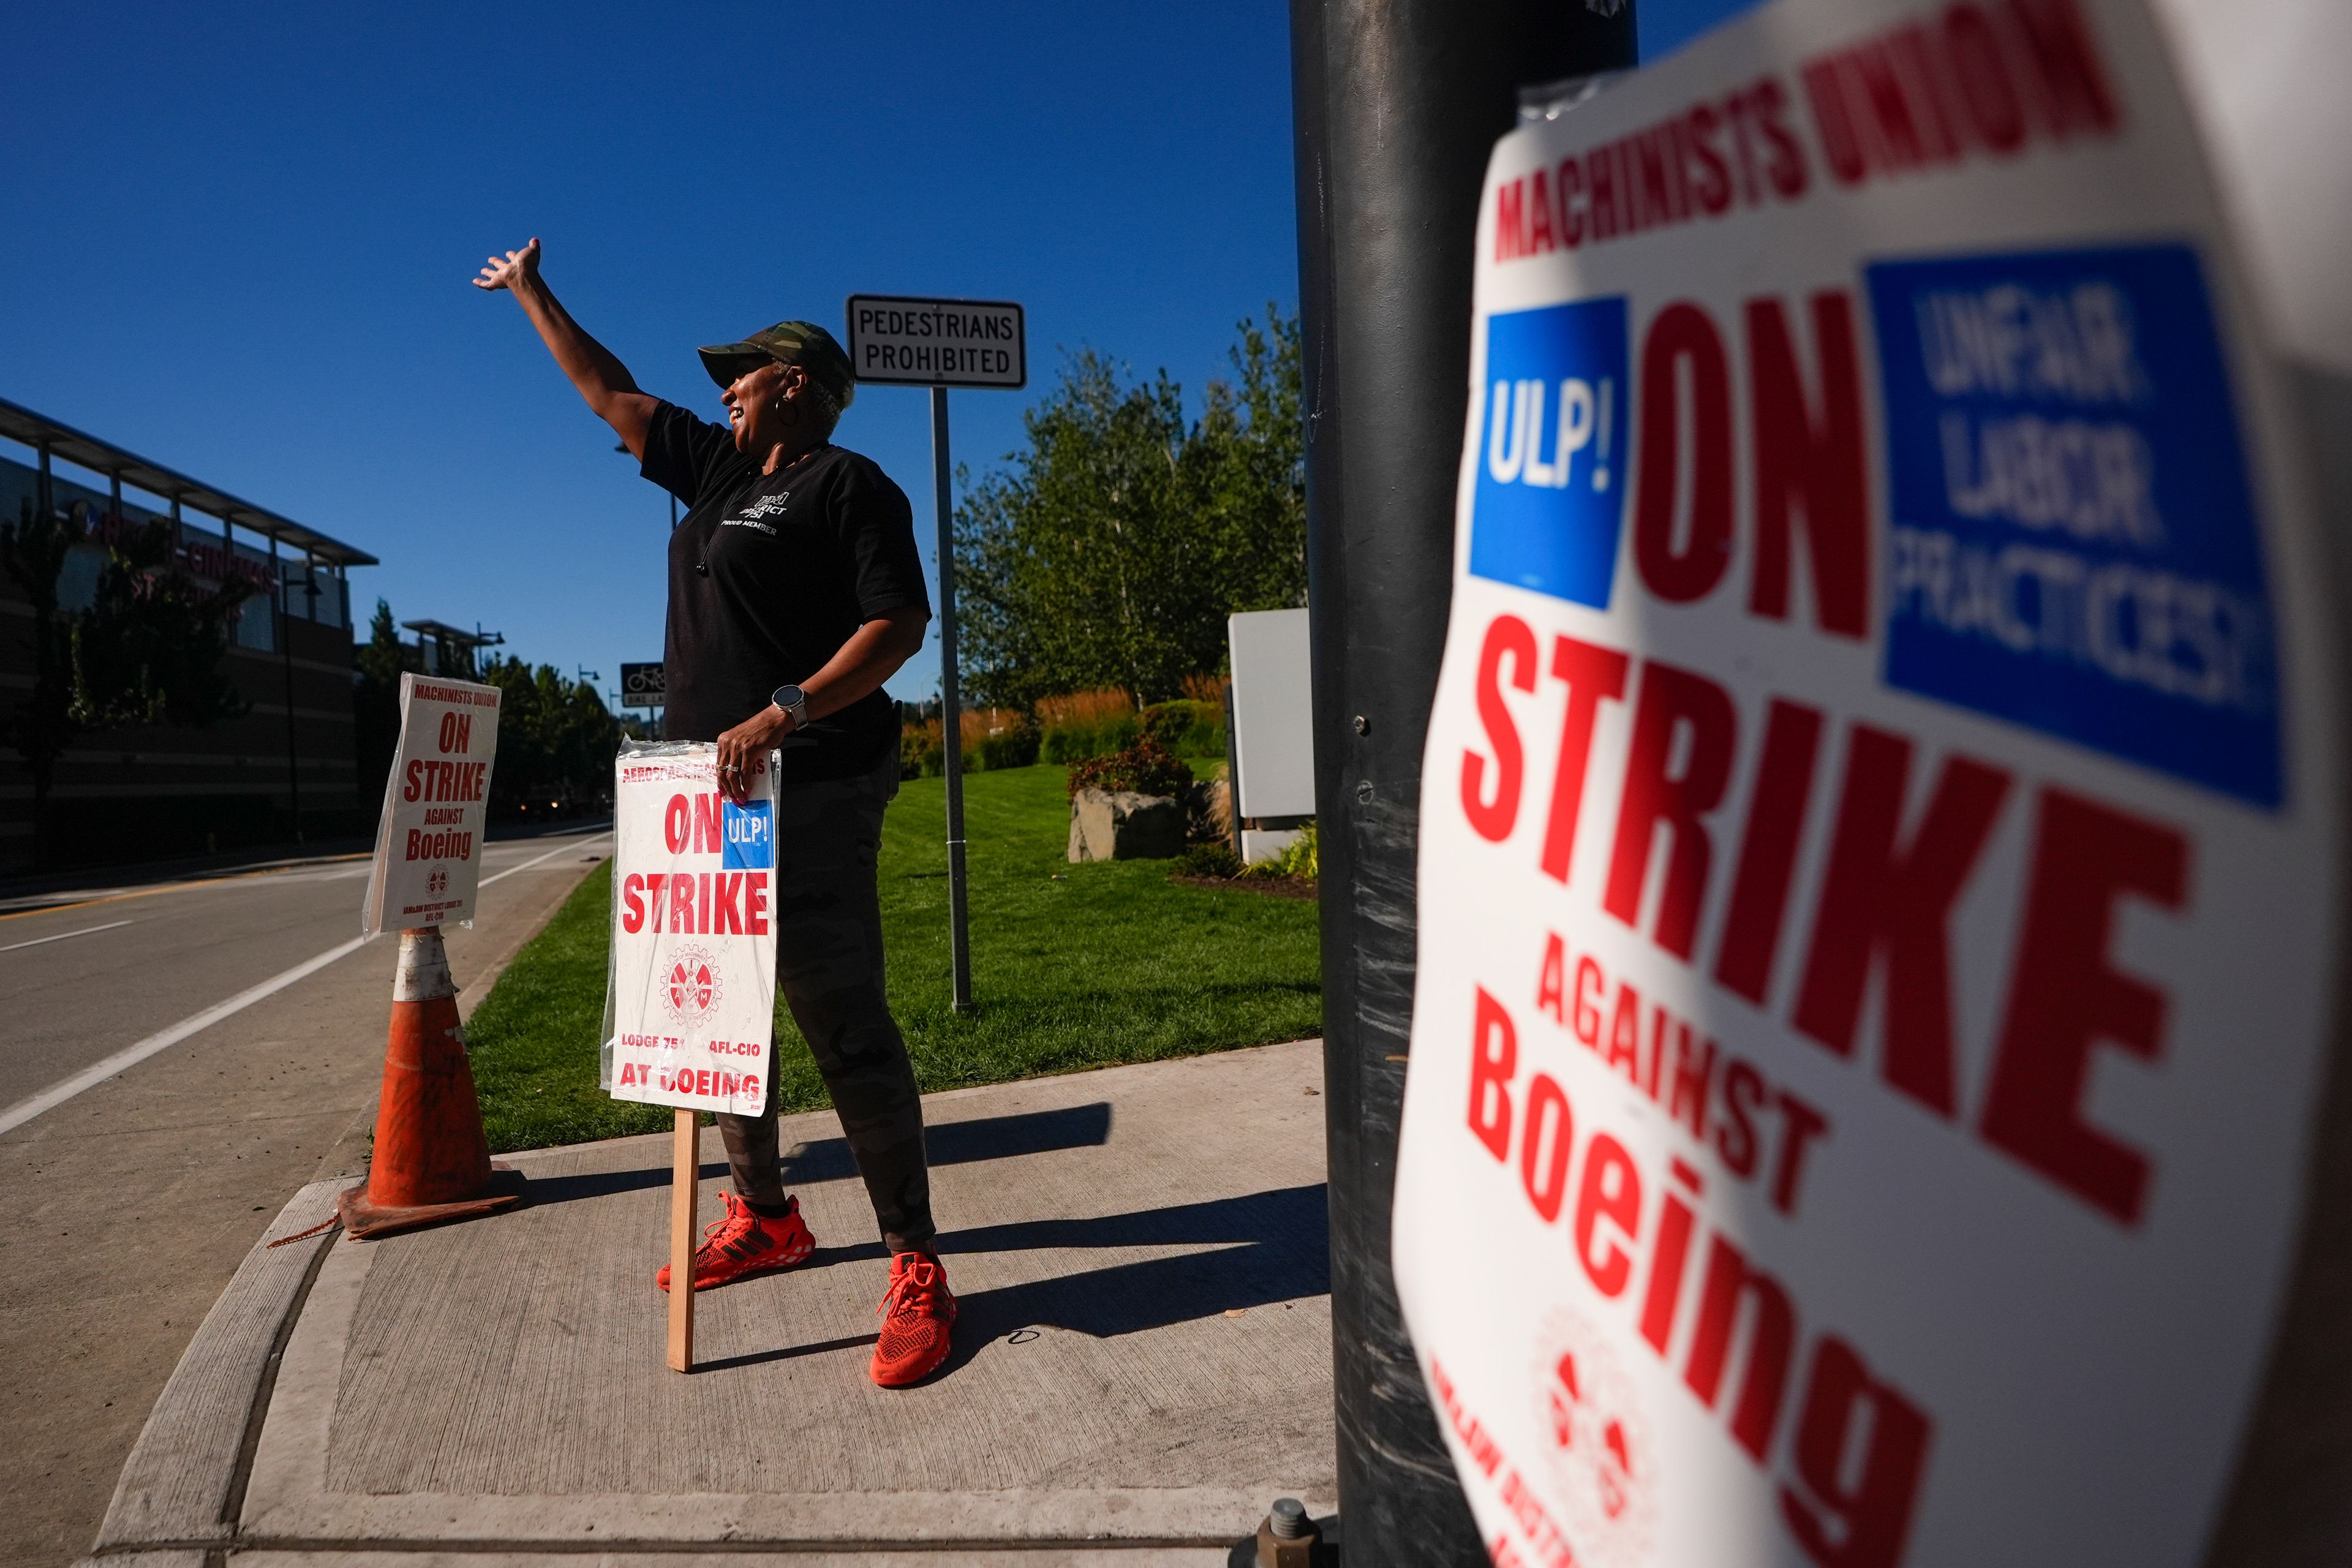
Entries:
[[376,860],[360,907],[365,936],[473,919],[496,757],[496,686],[400,677],[400,750],[376,818]]

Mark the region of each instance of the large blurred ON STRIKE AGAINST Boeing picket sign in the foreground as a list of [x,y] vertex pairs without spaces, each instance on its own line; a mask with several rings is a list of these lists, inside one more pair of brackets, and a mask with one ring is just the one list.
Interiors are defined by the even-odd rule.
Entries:
[[1406,1319],[1498,1563],[2194,1563],[2305,1211],[2331,562],[2138,0],[1494,153]]

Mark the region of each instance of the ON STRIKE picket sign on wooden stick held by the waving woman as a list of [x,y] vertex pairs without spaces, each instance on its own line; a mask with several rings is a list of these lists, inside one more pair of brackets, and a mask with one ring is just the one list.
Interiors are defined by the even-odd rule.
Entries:
[[604,1088],[675,1105],[670,1366],[694,1366],[696,1114],[760,1114],[776,1027],[776,769],[748,799],[717,785],[706,741],[630,745],[614,764]]

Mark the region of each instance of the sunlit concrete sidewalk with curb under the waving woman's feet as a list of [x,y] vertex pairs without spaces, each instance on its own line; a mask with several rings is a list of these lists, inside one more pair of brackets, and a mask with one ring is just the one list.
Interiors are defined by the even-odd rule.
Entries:
[[[887,1260],[830,1112],[786,1119],[816,1258],[652,1286],[668,1140],[513,1157],[529,1206],[256,1246],[148,1418],[101,1559],[254,1568],[1209,1563],[1334,1497],[1317,1041],[927,1100],[957,1352],[866,1380]],[[724,1175],[703,1143],[703,1211]],[[266,1239],[332,1213],[306,1187]]]

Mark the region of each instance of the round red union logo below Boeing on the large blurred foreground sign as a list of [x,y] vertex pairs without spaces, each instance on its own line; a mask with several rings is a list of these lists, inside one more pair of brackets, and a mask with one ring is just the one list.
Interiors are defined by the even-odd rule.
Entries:
[[1649,1561],[1658,1450],[1632,1380],[1583,1316],[1555,1312],[1536,1340],[1536,1401],[1562,1526],[1597,1568]]

